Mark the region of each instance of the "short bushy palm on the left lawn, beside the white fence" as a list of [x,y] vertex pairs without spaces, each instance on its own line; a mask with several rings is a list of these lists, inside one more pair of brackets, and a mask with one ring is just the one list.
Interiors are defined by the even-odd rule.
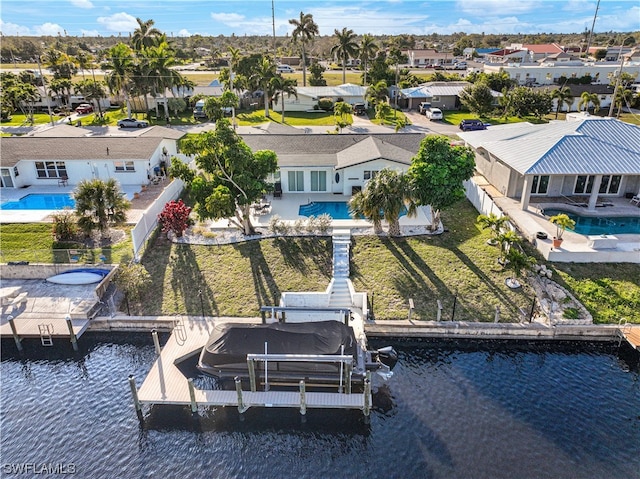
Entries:
[[111,224],[121,224],[127,219],[131,203],[122,195],[114,178],[102,181],[98,178],[81,181],[73,193],[76,201],[78,226],[89,235],[97,229],[104,232]]

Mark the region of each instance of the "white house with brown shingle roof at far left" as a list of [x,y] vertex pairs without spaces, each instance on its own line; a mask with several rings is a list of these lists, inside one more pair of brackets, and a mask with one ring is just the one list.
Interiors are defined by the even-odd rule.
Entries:
[[[121,185],[147,184],[156,167],[177,154],[181,131],[154,126],[126,136],[61,136],[42,132],[1,140],[0,176],[3,188],[35,185],[76,185],[90,178],[115,178]],[[88,130],[87,130],[88,132]],[[62,136],[64,135],[64,136]]]

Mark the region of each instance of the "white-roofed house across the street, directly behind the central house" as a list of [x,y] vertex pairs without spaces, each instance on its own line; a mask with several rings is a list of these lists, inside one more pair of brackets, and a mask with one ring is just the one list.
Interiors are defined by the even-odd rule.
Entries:
[[[298,98],[294,95],[288,97],[284,95],[285,111],[307,111],[313,110],[320,98],[331,98],[334,102],[344,101],[351,105],[356,103],[367,103],[367,88],[365,86],[345,83],[338,86],[307,86],[296,87]],[[278,100],[273,102],[273,109],[282,110],[282,95],[278,95]]]

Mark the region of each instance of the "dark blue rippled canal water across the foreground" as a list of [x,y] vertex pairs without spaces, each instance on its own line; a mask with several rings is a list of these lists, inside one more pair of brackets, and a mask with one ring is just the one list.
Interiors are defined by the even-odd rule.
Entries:
[[3,341],[1,477],[639,477],[640,371],[626,345],[397,341],[368,425],[357,411],[309,410],[303,423],[296,410],[241,420],[165,406],[141,426],[127,377],[140,385],[150,369],[150,335],[80,344],[27,342],[19,355]]

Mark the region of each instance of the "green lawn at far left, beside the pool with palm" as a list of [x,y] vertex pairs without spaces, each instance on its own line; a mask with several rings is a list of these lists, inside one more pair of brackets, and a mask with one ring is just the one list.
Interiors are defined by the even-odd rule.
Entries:
[[2,250],[0,258],[3,263],[9,261],[28,261],[30,263],[68,263],[68,249],[82,251],[81,262],[98,262],[100,255],[107,258],[107,263],[121,263],[131,260],[133,246],[131,228],[122,228],[125,239],[111,248],[84,249],[78,243],[58,243],[53,239],[50,223],[0,224]]

